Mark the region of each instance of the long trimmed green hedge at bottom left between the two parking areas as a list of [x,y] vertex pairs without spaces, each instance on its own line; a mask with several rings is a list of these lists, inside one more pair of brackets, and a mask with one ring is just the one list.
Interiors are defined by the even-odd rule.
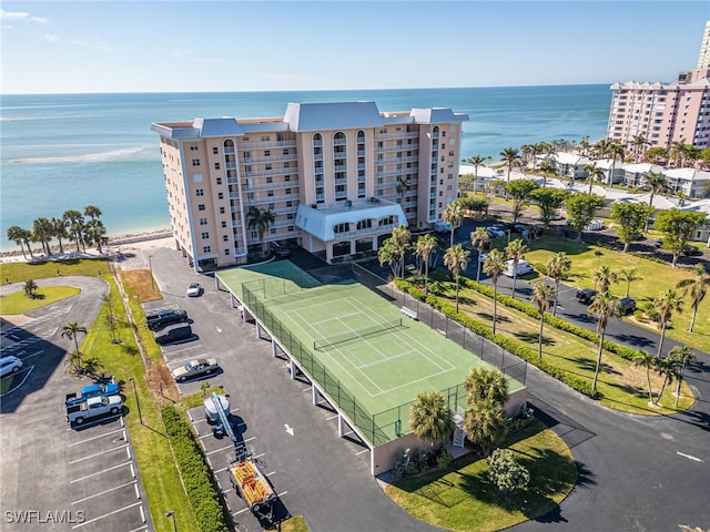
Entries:
[[201,532],[227,532],[226,508],[194,432],[173,407],[161,410],[175,462]]

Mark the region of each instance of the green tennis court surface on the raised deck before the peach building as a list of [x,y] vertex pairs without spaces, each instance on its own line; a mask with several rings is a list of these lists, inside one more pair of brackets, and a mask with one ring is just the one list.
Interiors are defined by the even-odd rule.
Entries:
[[[404,432],[409,431],[408,403],[419,391],[446,391],[452,407],[464,407],[466,393],[460,385],[471,367],[485,365],[352,279],[320,285],[287,260],[221,272],[219,278],[282,345],[307,351],[291,354],[296,360],[312,357],[315,366],[324,368],[322,376],[313,371],[312,377],[336,402],[339,390],[347,391],[344,397],[365,410],[356,417],[365,416],[376,426],[374,439],[377,429],[397,420],[405,424]],[[333,379],[337,397],[329,391]],[[523,388],[508,380],[510,392]],[[396,437],[392,428],[384,432],[386,439]]]

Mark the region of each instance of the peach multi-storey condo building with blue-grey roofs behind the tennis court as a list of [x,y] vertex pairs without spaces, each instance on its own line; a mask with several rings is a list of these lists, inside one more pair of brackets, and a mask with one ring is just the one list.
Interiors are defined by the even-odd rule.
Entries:
[[153,123],[176,246],[196,270],[284,243],[335,263],[376,252],[399,225],[433,228],[457,195],[467,120],[345,102]]

